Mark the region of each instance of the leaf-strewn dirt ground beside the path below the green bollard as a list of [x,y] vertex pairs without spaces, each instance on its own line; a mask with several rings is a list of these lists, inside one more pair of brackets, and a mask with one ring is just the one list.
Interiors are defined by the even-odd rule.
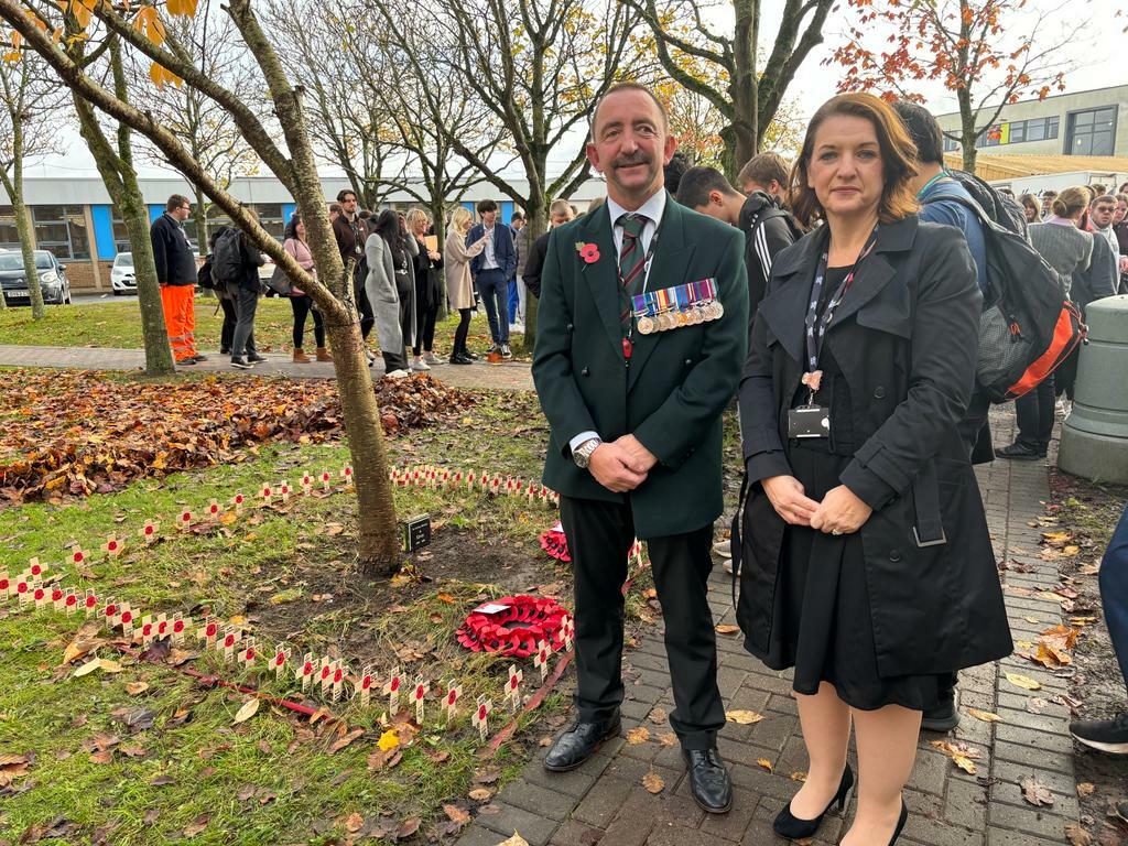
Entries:
[[[1060,528],[1073,532],[1072,543],[1081,554],[1063,558],[1059,573],[1078,596],[1074,614],[1096,617],[1085,626],[1074,650],[1070,695],[1081,702],[1075,708],[1083,720],[1103,720],[1128,711],[1128,694],[1109,633],[1103,625],[1100,585],[1094,567],[1100,564],[1109,538],[1128,503],[1128,488],[1096,485],[1060,472],[1050,475],[1052,502],[1048,511]],[[1076,775],[1081,794],[1082,822],[1098,834],[1101,846],[1128,844],[1128,756],[1110,756],[1076,744]],[[1084,785],[1092,785],[1090,792]]]

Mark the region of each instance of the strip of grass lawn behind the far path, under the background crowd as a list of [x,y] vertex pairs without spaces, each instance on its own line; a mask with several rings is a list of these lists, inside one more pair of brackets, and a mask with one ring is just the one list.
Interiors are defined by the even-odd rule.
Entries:
[[[223,312],[211,297],[196,296],[196,343],[202,350],[218,350]],[[291,328],[293,311],[290,302],[277,297],[258,302],[255,317],[255,342],[263,352],[289,352],[293,349]],[[458,316],[435,327],[435,351],[450,354]],[[306,346],[314,346],[314,321],[306,323]],[[374,345],[376,336],[372,336]],[[514,344],[520,336],[514,336]],[[485,315],[475,315],[470,324],[469,347],[484,351],[490,346],[490,326]],[[43,320],[33,320],[27,308],[0,311],[0,344],[30,346],[91,346],[135,350],[142,346],[141,324],[135,298],[94,302],[82,306],[51,306]]]

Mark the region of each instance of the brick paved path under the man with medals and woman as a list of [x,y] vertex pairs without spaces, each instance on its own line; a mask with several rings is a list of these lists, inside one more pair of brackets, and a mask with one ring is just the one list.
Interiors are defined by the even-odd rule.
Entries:
[[[994,423],[996,443],[1010,443],[1010,414],[999,413]],[[1056,585],[1056,565],[1037,556],[1040,529],[1029,526],[1042,513],[1040,501],[1049,495],[1045,465],[995,461],[980,468],[979,482],[996,553],[1032,567],[1025,574],[1006,572],[1006,584]],[[733,623],[728,575],[720,566],[710,588],[716,622]],[[1034,640],[1040,631],[1060,622],[1056,601],[1007,591],[1006,602],[1016,641]],[[513,831],[532,846],[591,846],[597,841],[605,846],[784,843],[773,834],[772,820],[797,790],[791,774],[807,769],[788,675],[773,672],[748,655],[739,636],[719,640],[725,707],[749,708],[766,717],[757,725],[730,722],[721,733],[719,746],[731,766],[735,786],[729,814],[714,817],[698,810],[689,797],[678,748],[663,747],[656,740],[669,732],[669,726],[664,720],[655,724],[647,719],[655,707],[667,712],[673,708],[660,632],[654,629],[626,656],[627,700],[623,705],[624,733],[642,724],[650,729],[651,739],[632,746],[618,738],[580,769],[563,775],[543,768],[545,750],[540,749],[525,774],[495,800],[500,812],[479,814],[459,846],[494,846]],[[1003,676],[1007,670],[1037,679],[1043,689],[1029,694],[1015,687]],[[1049,699],[1064,691],[1060,679],[1013,658],[1001,666],[962,672],[961,721],[955,738],[982,751],[978,776],[957,769],[928,744],[940,735],[922,734],[916,769],[905,794],[910,817],[900,843],[1065,843],[1065,825],[1077,821],[1079,814],[1067,711],[1058,704],[1038,714],[1026,710],[1034,697]],[[995,712],[1003,722],[980,722],[966,712],[967,707]],[[770,761],[775,772],[758,766],[760,758]],[[643,776],[651,770],[666,783],[659,795],[651,795],[642,786]],[[1023,802],[1019,779],[1028,775],[1050,787],[1055,794],[1052,808],[1039,810]],[[853,813],[853,804],[852,799],[847,816]],[[837,843],[845,830],[841,818],[828,817],[814,843]]]

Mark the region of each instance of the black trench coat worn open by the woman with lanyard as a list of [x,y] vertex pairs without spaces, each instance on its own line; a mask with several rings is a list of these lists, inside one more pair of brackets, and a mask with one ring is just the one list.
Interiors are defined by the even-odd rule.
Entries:
[[[733,549],[743,557],[738,622],[746,647],[776,666],[768,651],[785,523],[759,483],[791,474],[783,439],[805,370],[803,318],[821,243],[812,232],[776,258],[740,386],[751,486],[737,517],[742,548]],[[862,444],[840,481],[873,508],[861,535],[883,678],[954,671],[1012,651],[979,487],[957,432],[980,303],[962,233],[910,215],[879,228],[827,331]]]

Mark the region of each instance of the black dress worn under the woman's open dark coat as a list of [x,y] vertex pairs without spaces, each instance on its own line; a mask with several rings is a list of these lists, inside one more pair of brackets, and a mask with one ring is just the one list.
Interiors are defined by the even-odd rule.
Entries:
[[[827,271],[819,298],[820,318],[848,272],[848,267]],[[841,484],[839,474],[862,446],[854,443],[851,431],[849,388],[827,345],[819,367],[822,381],[814,402],[830,408],[830,437],[786,442],[792,473],[816,501]],[[800,386],[792,407],[805,404],[807,397],[807,388]],[[776,670],[794,667],[792,686],[796,693],[813,695],[819,682],[827,681],[835,686],[838,698],[862,711],[884,705],[926,711],[940,704],[950,673],[878,675],[861,534],[835,536],[787,525],[774,601],[774,618],[779,625],[772,627],[766,663]]]

